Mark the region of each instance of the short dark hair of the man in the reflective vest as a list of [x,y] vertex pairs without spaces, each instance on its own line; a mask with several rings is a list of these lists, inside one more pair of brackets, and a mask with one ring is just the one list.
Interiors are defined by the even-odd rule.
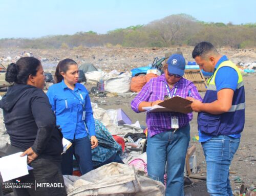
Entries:
[[210,42],[202,41],[195,46],[192,52],[192,57],[196,58],[197,56],[200,56],[202,58],[205,58],[205,56],[210,52],[218,54],[218,51],[216,50],[214,45],[212,45]]

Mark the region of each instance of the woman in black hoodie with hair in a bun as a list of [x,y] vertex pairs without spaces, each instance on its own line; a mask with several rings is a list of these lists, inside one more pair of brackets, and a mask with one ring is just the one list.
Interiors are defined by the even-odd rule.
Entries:
[[[48,97],[42,91],[44,70],[34,57],[9,64],[6,81],[13,83],[0,101],[11,145],[24,151],[34,169],[20,177],[21,183],[60,183],[60,188],[18,188],[15,195],[66,195],[61,174],[62,134]],[[16,182],[15,182],[16,183]],[[36,184],[34,184],[36,186]]]

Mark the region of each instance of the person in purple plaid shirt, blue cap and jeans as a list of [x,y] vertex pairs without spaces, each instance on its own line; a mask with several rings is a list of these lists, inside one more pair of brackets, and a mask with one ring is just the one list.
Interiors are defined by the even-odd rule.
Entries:
[[[164,74],[152,78],[133,99],[131,106],[136,113],[144,112],[142,107],[154,106],[164,100],[187,96],[202,100],[193,82],[183,78],[185,59],[173,54],[164,65]],[[147,113],[147,172],[154,180],[164,182],[167,170],[166,195],[184,195],[183,171],[190,140],[189,121],[192,113],[177,112]],[[166,164],[167,163],[167,164]]]

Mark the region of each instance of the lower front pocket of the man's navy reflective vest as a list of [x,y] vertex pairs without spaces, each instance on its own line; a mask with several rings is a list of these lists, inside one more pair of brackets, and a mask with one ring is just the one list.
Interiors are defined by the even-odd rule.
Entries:
[[219,127],[221,123],[220,115],[210,115],[205,113],[200,113],[198,117],[198,128],[200,132],[211,135],[218,136]]

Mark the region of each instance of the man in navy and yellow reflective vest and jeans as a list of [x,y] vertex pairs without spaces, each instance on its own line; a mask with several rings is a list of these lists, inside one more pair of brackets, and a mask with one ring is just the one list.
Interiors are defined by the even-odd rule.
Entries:
[[214,74],[208,80],[203,102],[193,98],[198,112],[199,142],[207,164],[210,195],[233,195],[229,167],[245,123],[245,92],[238,67],[217,52],[211,43],[198,43],[192,53],[200,69]]

